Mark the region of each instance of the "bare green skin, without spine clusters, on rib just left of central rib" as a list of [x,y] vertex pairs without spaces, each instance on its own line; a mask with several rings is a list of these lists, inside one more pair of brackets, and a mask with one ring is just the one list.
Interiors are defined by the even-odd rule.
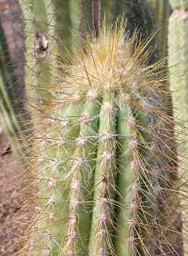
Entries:
[[[70,202],[68,202],[69,205],[69,216],[71,216],[72,210],[71,210],[71,200],[77,199],[80,202],[83,202],[84,205],[81,205],[77,211],[77,230],[80,234],[80,238],[77,239],[76,242],[71,242],[71,245],[69,245],[68,249],[77,253],[77,255],[85,255],[88,248],[89,243],[89,232],[90,232],[90,225],[91,225],[91,202],[92,202],[92,186],[93,186],[93,171],[96,166],[96,134],[97,129],[99,125],[99,98],[96,98],[95,101],[87,101],[83,105],[83,112],[80,116],[88,116],[91,119],[91,122],[89,122],[89,125],[87,124],[80,124],[80,133],[77,134],[77,137],[75,137],[75,140],[78,137],[84,137],[86,138],[86,143],[83,144],[83,146],[77,145],[77,149],[74,148],[74,153],[76,153],[76,156],[74,157],[81,157],[85,161],[85,165],[83,168],[80,167],[80,170],[77,168],[76,171],[74,171],[71,174],[71,179],[68,179],[67,182],[70,182],[72,180],[77,180],[80,182],[82,188],[81,193],[77,192],[77,190],[73,190],[71,188],[69,194],[70,194]],[[77,106],[76,106],[77,107]],[[74,159],[73,157],[73,159]],[[70,166],[71,168],[74,168],[74,160],[73,163]],[[70,171],[70,170],[67,170]],[[71,173],[71,171],[70,171]],[[66,233],[66,236],[68,236],[68,232]],[[66,238],[65,236],[65,238]],[[64,244],[66,248],[66,240]],[[67,252],[67,251],[65,251]]]

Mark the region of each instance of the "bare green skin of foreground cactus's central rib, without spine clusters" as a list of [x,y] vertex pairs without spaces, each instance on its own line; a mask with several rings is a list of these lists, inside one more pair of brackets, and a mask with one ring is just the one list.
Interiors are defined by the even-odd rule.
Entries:
[[[115,150],[116,147],[111,147],[110,144],[114,143],[114,137],[109,140],[102,140],[102,136],[108,133],[116,134],[115,132],[115,116],[114,113],[108,113],[105,111],[105,103],[111,103],[111,106],[114,111],[114,91],[104,91],[102,95],[102,105],[101,111],[99,114],[99,145],[96,159],[96,170],[95,170],[95,180],[94,180],[94,193],[93,193],[93,209],[92,209],[92,224],[91,224],[91,235],[89,241],[89,255],[96,256],[99,255],[100,248],[105,248],[106,253],[111,253],[113,248],[109,248],[107,241],[102,241],[102,238],[99,236],[99,230],[107,230],[108,233],[111,232],[111,224],[109,221],[105,224],[100,224],[100,214],[102,211],[107,214],[108,211],[113,211],[113,207],[111,206],[103,206],[102,204],[102,194],[105,193],[105,184],[102,182],[103,175],[107,174],[111,177],[111,183],[108,187],[109,199],[114,200],[114,185],[117,175],[116,170],[116,159],[115,159]],[[101,138],[101,140],[100,140]],[[106,161],[105,156],[103,158],[103,153],[108,152],[113,154],[111,159]],[[108,186],[108,185],[107,185]],[[109,203],[110,204],[110,203]],[[110,210],[108,209],[110,208]],[[113,219],[112,212],[108,212],[110,217]],[[98,227],[99,225],[99,227]],[[97,231],[96,231],[97,230]],[[109,234],[110,236],[110,234]],[[111,239],[111,238],[110,238]],[[112,250],[112,251],[111,251]]]

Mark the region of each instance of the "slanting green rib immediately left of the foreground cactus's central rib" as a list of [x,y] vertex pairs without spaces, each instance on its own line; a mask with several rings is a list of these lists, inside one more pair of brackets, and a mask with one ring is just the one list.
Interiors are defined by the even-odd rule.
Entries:
[[77,150],[75,150],[71,171],[67,179],[71,180],[70,203],[68,215],[68,233],[65,242],[65,253],[82,255],[86,254],[90,231],[90,214],[92,193],[93,168],[95,166],[96,149],[92,141],[96,140],[98,125],[99,103],[97,94],[89,92],[83,115],[80,117],[80,134],[76,138]]

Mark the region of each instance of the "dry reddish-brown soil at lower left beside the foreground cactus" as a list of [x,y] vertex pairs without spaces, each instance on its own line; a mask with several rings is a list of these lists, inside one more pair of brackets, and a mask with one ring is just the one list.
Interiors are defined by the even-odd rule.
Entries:
[[22,236],[20,224],[14,221],[16,214],[23,205],[18,196],[20,191],[21,176],[18,161],[13,156],[0,126],[0,255],[12,256],[20,248],[17,243]]

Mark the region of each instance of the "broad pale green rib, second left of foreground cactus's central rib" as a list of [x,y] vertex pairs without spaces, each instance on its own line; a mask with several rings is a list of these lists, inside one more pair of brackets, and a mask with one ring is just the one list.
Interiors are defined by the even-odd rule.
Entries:
[[[65,220],[68,219],[71,196],[71,175],[68,174],[71,165],[68,165],[68,160],[72,156],[71,161],[74,162],[74,144],[80,131],[78,121],[83,100],[79,100],[78,91],[76,94],[70,90],[64,93],[65,97],[61,99],[64,109],[55,106],[56,113],[47,117],[44,134],[36,141],[37,155],[33,156],[33,172],[41,180],[39,184],[36,180],[35,187],[38,191],[44,191],[38,195],[35,211],[39,221],[31,233],[36,255],[46,250],[52,254],[63,251],[65,241],[62,238],[65,239],[67,235],[67,228],[59,228],[59,225],[67,227]],[[39,156],[38,152],[41,152]]]

